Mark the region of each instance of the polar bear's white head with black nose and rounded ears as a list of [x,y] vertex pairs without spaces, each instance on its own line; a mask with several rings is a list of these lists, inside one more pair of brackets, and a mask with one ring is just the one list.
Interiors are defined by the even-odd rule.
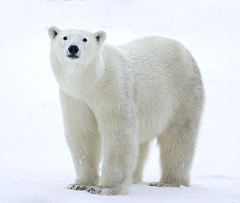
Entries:
[[99,55],[101,45],[106,39],[104,31],[91,33],[87,30],[60,30],[57,27],[50,27],[48,34],[52,52],[61,64],[86,65],[93,57]]

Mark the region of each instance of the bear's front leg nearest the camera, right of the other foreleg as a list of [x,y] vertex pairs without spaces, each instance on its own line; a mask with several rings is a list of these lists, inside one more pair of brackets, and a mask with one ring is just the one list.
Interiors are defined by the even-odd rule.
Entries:
[[98,127],[103,137],[102,177],[99,187],[87,189],[90,193],[125,194],[132,182],[138,152],[137,121],[133,109],[126,111],[124,108],[127,107],[118,110],[101,108]]

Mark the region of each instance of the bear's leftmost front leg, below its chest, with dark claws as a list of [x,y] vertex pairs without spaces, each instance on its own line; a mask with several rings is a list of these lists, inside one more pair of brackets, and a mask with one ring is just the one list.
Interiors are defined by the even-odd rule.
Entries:
[[98,185],[101,140],[96,119],[82,101],[60,91],[66,140],[72,155],[76,180],[68,189],[86,190]]

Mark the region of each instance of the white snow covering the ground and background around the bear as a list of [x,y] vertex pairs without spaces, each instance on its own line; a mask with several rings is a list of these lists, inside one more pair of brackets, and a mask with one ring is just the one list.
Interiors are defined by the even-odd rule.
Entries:
[[[2,0],[0,7],[0,202],[240,202],[240,2],[236,0]],[[66,186],[75,172],[63,134],[47,28],[107,32],[122,44],[146,35],[183,43],[196,58],[206,106],[191,186],[157,188],[153,143],[144,183],[125,196]]]

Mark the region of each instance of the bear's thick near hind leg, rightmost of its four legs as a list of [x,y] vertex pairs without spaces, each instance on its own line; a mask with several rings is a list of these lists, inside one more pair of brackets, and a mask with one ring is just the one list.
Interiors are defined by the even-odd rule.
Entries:
[[175,122],[158,138],[162,177],[150,186],[189,186],[198,124],[191,119]]

